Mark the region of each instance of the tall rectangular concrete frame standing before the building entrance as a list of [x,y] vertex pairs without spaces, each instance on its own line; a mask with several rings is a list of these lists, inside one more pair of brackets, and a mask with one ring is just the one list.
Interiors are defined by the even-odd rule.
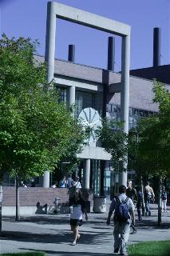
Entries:
[[[112,19],[91,14],[57,2],[48,2],[45,38],[45,61],[47,62],[47,79],[50,82],[54,74],[54,54],[56,18],[75,22],[93,29],[117,34],[122,38],[121,49],[121,120],[124,131],[128,134],[128,103],[129,103],[129,62],[130,62],[130,26]],[[73,93],[74,96],[75,92]],[[125,163],[126,166],[126,163]],[[122,184],[126,185],[127,174],[122,175]]]

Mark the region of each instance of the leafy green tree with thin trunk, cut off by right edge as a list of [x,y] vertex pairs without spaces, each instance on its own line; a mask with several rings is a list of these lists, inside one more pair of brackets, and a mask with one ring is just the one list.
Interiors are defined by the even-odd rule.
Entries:
[[[159,113],[142,119],[136,133],[138,141],[131,137],[129,148],[134,162],[145,174],[159,177],[161,181],[170,174],[170,95],[165,86],[154,81],[153,102],[159,103]],[[132,134],[131,134],[132,135]],[[133,152],[133,153],[132,153]],[[160,193],[159,190],[158,222],[161,222]]]

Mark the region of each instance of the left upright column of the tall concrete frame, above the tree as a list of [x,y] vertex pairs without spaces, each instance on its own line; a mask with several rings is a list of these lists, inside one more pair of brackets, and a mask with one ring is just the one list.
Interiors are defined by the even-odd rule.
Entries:
[[56,14],[55,2],[47,3],[45,61],[47,62],[47,81],[53,79],[55,55]]

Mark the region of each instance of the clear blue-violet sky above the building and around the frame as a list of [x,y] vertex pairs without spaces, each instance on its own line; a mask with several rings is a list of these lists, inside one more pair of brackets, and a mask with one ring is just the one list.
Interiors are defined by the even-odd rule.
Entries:
[[[0,34],[9,38],[38,39],[38,54],[45,54],[47,0],[0,0]],[[153,28],[161,30],[161,65],[170,63],[170,0],[58,0],[131,26],[130,68],[152,66]],[[75,45],[75,62],[107,68],[108,37],[113,36],[57,19],[55,58],[67,60]],[[121,70],[121,38],[116,36],[115,70]]]

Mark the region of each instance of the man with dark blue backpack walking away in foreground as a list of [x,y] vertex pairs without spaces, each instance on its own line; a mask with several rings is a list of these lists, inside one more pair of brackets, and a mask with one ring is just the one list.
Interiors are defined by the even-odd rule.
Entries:
[[119,195],[113,198],[109,208],[107,224],[110,224],[110,218],[114,212],[114,253],[128,255],[126,244],[130,233],[131,222],[135,225],[135,206],[131,198],[126,196],[126,187],[119,187]]

